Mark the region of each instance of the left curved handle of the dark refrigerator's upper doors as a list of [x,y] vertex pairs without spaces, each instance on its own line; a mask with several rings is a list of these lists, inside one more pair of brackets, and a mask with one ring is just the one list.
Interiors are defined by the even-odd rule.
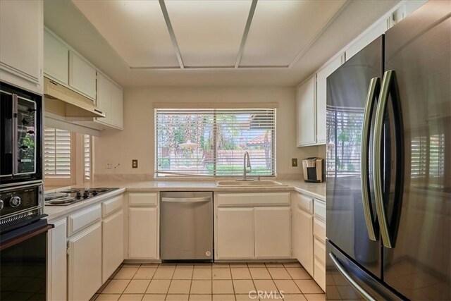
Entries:
[[371,116],[373,115],[373,107],[376,97],[381,90],[381,79],[371,78],[369,83],[368,94],[366,95],[366,105],[364,111],[364,122],[362,125],[362,149],[360,152],[360,171],[362,173],[360,181],[362,186],[362,203],[364,207],[364,216],[366,223],[366,231],[370,240],[376,241],[376,232],[373,226],[373,210],[371,209],[369,197],[369,140],[371,129]]

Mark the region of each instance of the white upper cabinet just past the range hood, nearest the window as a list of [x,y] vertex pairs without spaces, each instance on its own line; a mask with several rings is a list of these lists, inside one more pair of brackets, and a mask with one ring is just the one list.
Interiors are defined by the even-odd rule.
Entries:
[[106,116],[97,122],[123,129],[123,90],[102,73],[97,73],[97,106]]

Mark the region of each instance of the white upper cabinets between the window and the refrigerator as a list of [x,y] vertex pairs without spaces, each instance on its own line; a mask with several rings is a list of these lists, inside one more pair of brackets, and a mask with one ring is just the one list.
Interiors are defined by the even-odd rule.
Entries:
[[327,77],[345,62],[341,54],[297,87],[297,146],[326,143]]

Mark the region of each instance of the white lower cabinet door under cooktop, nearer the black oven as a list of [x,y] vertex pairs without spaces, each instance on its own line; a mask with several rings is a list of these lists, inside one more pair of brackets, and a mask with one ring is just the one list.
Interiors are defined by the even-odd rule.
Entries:
[[101,282],[101,223],[68,240],[68,299],[89,300]]

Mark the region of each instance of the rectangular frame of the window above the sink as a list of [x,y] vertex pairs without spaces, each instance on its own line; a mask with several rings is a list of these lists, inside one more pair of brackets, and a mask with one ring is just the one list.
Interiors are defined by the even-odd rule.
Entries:
[[[276,135],[277,135],[277,106],[275,106],[274,104],[270,104],[269,106],[243,106],[243,104],[238,104],[237,106],[234,106],[233,104],[230,104],[226,107],[210,107],[210,106],[196,106],[196,107],[191,107],[191,106],[186,106],[186,104],[182,104],[179,106],[177,106],[176,104],[172,104],[171,106],[156,106],[154,107],[154,177],[155,178],[237,178],[240,176],[240,174],[230,174],[230,175],[224,175],[224,174],[219,174],[218,175],[218,168],[217,168],[217,157],[216,157],[216,152],[217,152],[217,147],[216,147],[216,133],[214,133],[214,138],[213,138],[213,143],[214,143],[214,162],[213,162],[213,175],[206,175],[206,174],[189,174],[189,173],[185,173],[185,174],[181,174],[181,173],[177,173],[176,171],[174,171],[174,173],[168,172],[168,173],[161,173],[161,171],[158,170],[158,160],[159,160],[159,135],[158,135],[158,114],[157,111],[159,110],[186,110],[186,109],[190,109],[190,110],[209,110],[211,109],[211,111],[213,112],[214,115],[214,123],[212,124],[213,128],[216,128],[217,125],[215,125],[216,123],[216,113],[218,111],[221,110],[243,110],[243,109],[248,109],[249,111],[252,110],[268,110],[268,111],[273,111],[273,125],[272,125],[272,129],[271,129],[271,164],[272,164],[272,172],[269,175],[247,175],[249,178],[255,178],[255,177],[259,177],[259,178],[275,178],[277,176],[277,156],[276,156],[276,150],[277,150],[277,139],[276,139]],[[217,124],[217,123],[216,123]]]

